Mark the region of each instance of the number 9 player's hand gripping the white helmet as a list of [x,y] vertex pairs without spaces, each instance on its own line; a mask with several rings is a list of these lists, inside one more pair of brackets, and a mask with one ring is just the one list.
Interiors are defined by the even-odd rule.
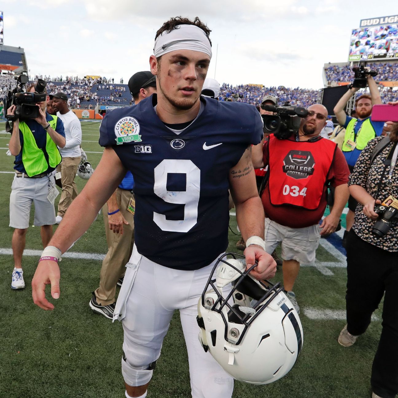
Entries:
[[246,257],[246,269],[252,267],[256,261],[258,262],[257,267],[250,271],[250,275],[255,277],[258,281],[270,279],[275,276],[275,260],[270,254],[265,252],[261,246],[250,245],[245,249],[243,254]]

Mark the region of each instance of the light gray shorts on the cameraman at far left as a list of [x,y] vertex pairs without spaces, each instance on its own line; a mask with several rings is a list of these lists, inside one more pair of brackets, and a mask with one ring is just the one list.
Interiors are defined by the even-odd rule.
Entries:
[[55,208],[47,199],[50,182],[55,185],[54,176],[41,178],[14,177],[10,195],[10,226],[29,228],[32,202],[35,204],[35,226],[55,224]]

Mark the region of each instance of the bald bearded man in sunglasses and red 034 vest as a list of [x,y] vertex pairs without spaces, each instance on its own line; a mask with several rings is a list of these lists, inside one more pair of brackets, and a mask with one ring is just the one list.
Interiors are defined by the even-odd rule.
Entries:
[[[285,140],[271,134],[264,145],[261,142],[252,148],[254,168],[268,166],[269,172],[261,195],[265,250],[272,253],[281,242],[283,285],[298,313],[293,285],[300,264],[315,262],[320,236],[336,230],[349,196],[344,155],[335,142],[320,136],[327,117],[323,105],[311,105],[297,133]],[[328,182],[336,188],[334,207],[319,225],[326,208]]]

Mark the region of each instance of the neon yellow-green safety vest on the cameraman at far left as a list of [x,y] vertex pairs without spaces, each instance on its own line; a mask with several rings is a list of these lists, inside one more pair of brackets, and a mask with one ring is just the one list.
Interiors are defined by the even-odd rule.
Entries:
[[[49,120],[50,127],[55,130],[57,126],[57,116],[53,116],[53,120]],[[22,163],[25,168],[26,174],[29,177],[36,176],[37,174],[44,173],[49,167],[56,168],[61,160],[62,156],[59,153],[59,149],[55,142],[46,132],[46,152],[48,154],[48,162],[44,156],[43,149],[37,146],[35,137],[28,125],[21,121],[20,131],[23,136],[23,146],[22,146]]]

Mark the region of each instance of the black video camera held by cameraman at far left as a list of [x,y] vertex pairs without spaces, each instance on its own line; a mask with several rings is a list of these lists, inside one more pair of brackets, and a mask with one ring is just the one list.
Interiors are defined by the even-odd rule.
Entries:
[[15,105],[16,109],[14,115],[6,115],[6,119],[15,121],[17,119],[35,119],[39,117],[39,107],[36,103],[46,100],[46,82],[38,79],[35,84],[35,92],[27,93],[25,89],[28,82],[27,74],[21,73],[16,75],[14,79],[17,81],[17,85],[14,90],[8,91],[5,109],[8,109],[11,105]]

